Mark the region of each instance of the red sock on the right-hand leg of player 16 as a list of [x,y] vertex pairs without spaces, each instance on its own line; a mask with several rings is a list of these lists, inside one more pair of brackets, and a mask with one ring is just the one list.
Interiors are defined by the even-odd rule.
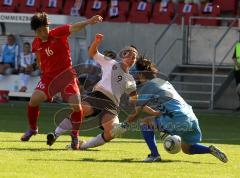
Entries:
[[82,123],[82,109],[79,112],[73,112],[71,114],[71,123],[72,123],[72,134],[73,136],[78,136],[79,128]]

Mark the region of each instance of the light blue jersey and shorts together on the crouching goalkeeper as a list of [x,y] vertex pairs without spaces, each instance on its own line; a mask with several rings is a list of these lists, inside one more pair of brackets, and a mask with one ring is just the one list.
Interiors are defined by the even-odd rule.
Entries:
[[155,118],[158,129],[171,135],[179,135],[182,142],[187,144],[201,141],[201,129],[192,107],[168,81],[152,79],[140,88],[138,95],[137,105],[147,104],[161,112],[161,115]]

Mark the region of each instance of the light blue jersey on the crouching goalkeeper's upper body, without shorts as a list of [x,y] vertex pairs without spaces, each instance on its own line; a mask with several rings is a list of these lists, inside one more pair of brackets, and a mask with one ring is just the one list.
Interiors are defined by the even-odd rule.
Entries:
[[[137,106],[147,104],[153,109],[159,110],[162,116],[192,115],[192,107],[184,101],[172,84],[160,78],[154,78],[144,83],[138,91],[138,95]],[[189,119],[189,117],[187,118]]]

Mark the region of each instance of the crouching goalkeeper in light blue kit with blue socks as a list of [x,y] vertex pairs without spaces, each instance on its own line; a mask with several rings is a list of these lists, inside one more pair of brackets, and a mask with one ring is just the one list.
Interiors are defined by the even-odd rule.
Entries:
[[202,134],[192,107],[168,81],[158,78],[158,73],[150,60],[140,58],[137,61],[135,80],[140,89],[135,109],[124,123],[115,125],[112,135],[117,137],[130,129],[130,124],[143,110],[152,115],[143,118],[140,123],[143,138],[151,152],[145,162],[161,161],[154,133],[157,129],[162,140],[169,134],[180,136],[182,151],[185,154],[212,154],[226,163],[227,156],[218,148],[199,144]]

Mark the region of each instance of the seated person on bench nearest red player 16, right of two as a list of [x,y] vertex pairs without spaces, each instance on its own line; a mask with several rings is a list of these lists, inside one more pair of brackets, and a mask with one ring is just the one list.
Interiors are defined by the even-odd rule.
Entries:
[[[35,55],[31,52],[31,45],[29,42],[23,44],[23,52],[20,53],[20,81],[21,88],[20,92],[25,92],[27,90],[27,84],[30,74],[39,73],[36,69]],[[35,71],[35,72],[34,72]]]

